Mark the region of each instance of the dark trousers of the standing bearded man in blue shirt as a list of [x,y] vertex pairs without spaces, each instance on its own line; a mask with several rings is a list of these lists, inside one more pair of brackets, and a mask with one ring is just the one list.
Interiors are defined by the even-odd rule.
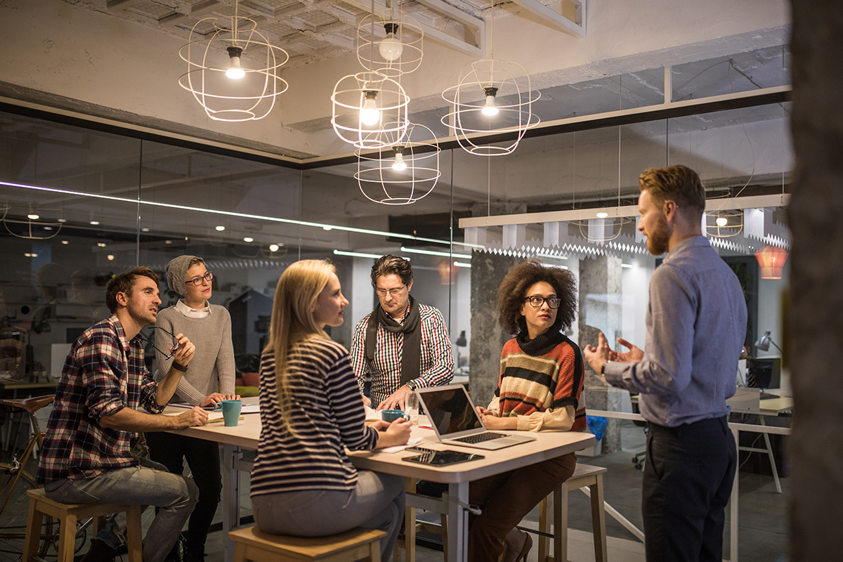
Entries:
[[647,562],[721,562],[738,451],[726,418],[649,424],[642,484]]

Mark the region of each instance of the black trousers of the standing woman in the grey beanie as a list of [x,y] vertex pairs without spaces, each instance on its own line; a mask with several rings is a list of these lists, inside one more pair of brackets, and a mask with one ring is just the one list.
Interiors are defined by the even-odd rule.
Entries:
[[170,473],[182,474],[185,470],[183,461],[187,459],[187,466],[199,489],[199,500],[187,523],[186,548],[201,552],[223,491],[219,444],[163,431],[147,433],[146,437],[150,458],[163,464]]

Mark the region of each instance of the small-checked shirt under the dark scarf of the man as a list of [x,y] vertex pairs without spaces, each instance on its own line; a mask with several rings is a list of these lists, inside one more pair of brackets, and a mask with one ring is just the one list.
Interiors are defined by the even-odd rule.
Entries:
[[[360,392],[366,383],[366,373],[372,375],[372,407],[377,406],[401,385],[401,354],[404,335],[388,332],[378,326],[378,343],[375,346],[373,365],[366,360],[366,326],[372,313],[362,318],[352,335],[352,367],[357,375]],[[421,324],[421,372],[412,379],[416,387],[433,387],[448,384],[454,378],[454,356],[448,340],[445,318],[437,308],[419,303]],[[401,319],[404,322],[404,319]]]

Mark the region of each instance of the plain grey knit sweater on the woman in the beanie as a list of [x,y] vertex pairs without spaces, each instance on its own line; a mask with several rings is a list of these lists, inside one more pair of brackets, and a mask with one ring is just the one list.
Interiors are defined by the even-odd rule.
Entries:
[[[172,334],[184,334],[193,345],[193,354],[187,372],[181,376],[179,386],[170,402],[186,402],[198,406],[201,399],[211,393],[234,393],[234,345],[231,343],[231,316],[218,304],[211,305],[205,318],[188,318],[178,308],[168,307],[158,312],[156,326]],[[166,351],[173,346],[173,336],[155,330],[155,345]],[[160,381],[172,367],[172,357],[155,352],[155,379]]]

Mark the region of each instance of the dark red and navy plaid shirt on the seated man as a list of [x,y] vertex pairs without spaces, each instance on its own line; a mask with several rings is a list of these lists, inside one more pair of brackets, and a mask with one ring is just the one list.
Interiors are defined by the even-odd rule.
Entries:
[[99,425],[104,415],[139,406],[160,414],[158,385],[143,363],[140,339],[126,340],[116,316],[85,330],[64,362],[62,381],[40,450],[38,484],[94,478],[115,468],[136,466],[132,433]]

